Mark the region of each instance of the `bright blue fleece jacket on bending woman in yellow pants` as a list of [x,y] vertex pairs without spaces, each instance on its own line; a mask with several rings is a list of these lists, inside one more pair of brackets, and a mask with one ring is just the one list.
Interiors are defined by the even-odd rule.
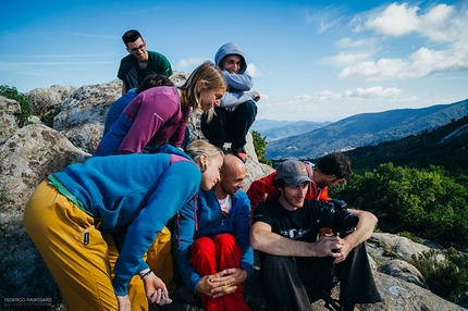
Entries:
[[193,206],[201,182],[198,166],[172,146],[156,154],[93,157],[53,176],[101,219],[99,229],[126,231],[114,268],[119,296],[127,294],[130,279],[148,268],[143,256],[157,233],[183,206]]

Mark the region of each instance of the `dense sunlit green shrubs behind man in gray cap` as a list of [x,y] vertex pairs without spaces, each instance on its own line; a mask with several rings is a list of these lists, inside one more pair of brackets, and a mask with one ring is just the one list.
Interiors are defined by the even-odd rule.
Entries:
[[364,176],[353,174],[333,195],[352,208],[374,213],[383,232],[408,232],[444,247],[468,246],[468,189],[446,176],[443,167],[381,164]]

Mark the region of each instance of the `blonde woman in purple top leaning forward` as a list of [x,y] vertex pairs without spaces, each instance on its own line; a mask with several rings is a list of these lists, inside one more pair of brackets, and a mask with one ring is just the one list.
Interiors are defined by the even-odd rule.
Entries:
[[188,116],[201,109],[211,119],[226,91],[226,80],[211,62],[199,65],[180,87],[161,86],[140,92],[102,137],[94,156],[155,153],[168,142],[181,147]]

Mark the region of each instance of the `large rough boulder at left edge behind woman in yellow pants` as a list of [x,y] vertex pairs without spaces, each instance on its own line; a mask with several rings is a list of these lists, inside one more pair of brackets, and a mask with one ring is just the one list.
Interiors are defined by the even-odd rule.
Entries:
[[52,298],[61,304],[57,285],[24,231],[23,212],[48,174],[89,157],[60,133],[40,124],[23,127],[0,142],[1,297]]

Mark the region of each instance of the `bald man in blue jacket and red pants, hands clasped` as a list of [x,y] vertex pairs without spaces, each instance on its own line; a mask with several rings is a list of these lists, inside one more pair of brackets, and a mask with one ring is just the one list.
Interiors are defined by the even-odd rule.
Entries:
[[188,288],[200,294],[205,310],[250,310],[244,301],[244,282],[251,275],[250,202],[241,190],[246,167],[224,156],[220,182],[198,192],[197,211],[180,211],[173,251]]

